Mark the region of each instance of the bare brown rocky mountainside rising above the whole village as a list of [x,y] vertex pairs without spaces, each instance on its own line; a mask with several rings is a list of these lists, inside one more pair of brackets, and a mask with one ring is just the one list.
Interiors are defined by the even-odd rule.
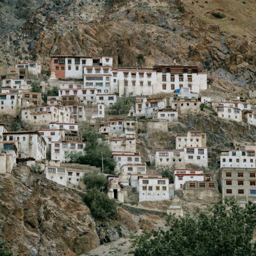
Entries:
[[[222,19],[213,14],[224,14]],[[121,66],[197,64],[218,85],[255,83],[254,0],[1,0],[1,65],[52,54]]]

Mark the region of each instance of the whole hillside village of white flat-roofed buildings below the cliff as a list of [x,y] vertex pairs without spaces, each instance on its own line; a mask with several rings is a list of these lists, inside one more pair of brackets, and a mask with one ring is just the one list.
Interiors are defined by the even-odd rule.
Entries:
[[[141,135],[147,140],[149,134],[168,133],[182,115],[209,112],[220,120],[254,126],[255,90],[247,98],[215,97],[208,94],[207,73],[197,66],[113,67],[112,57],[105,56],[52,56],[45,81],[41,73],[37,61],[0,69],[0,115],[30,128],[12,130],[0,124],[0,174],[11,173],[22,162],[40,166],[50,181],[84,190],[85,173],[104,172],[109,198],[132,204],[167,200],[173,202],[167,213],[181,216],[177,197],[216,202],[234,196],[242,204],[256,202],[256,143],[241,140],[222,148],[215,168],[209,166],[207,134],[200,130],[176,133],[173,148],[154,148],[146,157],[137,145]],[[122,99],[129,101],[128,111],[119,113],[117,107],[113,114]],[[101,166],[70,159],[86,154],[81,128],[108,142],[115,160],[112,171],[104,169],[102,151]],[[163,175],[164,170],[173,177]]]

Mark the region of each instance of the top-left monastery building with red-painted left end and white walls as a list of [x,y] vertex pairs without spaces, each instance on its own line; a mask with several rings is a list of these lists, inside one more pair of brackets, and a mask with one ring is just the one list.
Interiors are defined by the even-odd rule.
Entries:
[[83,79],[84,68],[112,67],[112,65],[112,57],[52,56],[49,72],[50,74],[54,72],[57,79]]

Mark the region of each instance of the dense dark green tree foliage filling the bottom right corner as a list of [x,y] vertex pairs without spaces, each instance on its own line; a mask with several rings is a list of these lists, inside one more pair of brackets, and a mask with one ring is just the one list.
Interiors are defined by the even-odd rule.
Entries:
[[151,239],[140,237],[134,255],[255,256],[255,216],[255,203],[243,208],[234,199],[197,210],[195,216],[168,216],[170,229],[155,231]]

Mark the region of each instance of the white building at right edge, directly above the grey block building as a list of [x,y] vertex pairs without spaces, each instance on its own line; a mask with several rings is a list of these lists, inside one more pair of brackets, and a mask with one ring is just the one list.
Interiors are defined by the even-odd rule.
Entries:
[[221,168],[256,168],[254,150],[221,150]]

